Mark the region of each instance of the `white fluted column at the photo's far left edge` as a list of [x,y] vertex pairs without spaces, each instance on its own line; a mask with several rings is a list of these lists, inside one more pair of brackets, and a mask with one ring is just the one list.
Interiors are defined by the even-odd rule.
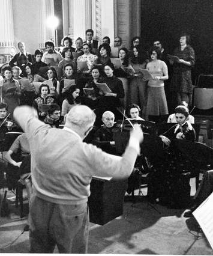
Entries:
[[13,2],[1,0],[0,7],[0,54],[10,61],[10,49],[14,47]]

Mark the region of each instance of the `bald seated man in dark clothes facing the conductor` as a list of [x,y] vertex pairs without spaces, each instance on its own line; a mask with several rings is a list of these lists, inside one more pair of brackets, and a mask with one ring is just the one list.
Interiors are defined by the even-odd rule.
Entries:
[[105,111],[102,115],[103,125],[94,134],[93,144],[106,153],[116,154],[115,141],[113,141],[113,127],[115,115],[111,111]]

